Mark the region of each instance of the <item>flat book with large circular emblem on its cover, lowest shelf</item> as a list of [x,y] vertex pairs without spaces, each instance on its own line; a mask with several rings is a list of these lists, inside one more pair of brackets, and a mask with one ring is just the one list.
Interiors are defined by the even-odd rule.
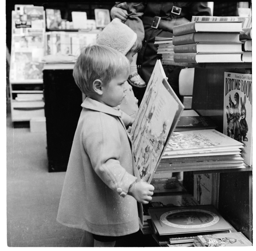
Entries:
[[159,235],[214,232],[231,229],[212,205],[149,208]]

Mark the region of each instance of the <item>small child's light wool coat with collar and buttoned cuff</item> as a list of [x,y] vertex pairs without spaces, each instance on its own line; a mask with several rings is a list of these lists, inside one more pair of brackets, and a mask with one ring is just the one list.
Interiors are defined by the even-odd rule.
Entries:
[[57,221],[98,235],[137,232],[137,201],[117,192],[121,188],[127,193],[139,177],[134,176],[131,140],[121,113],[88,97],[82,107]]

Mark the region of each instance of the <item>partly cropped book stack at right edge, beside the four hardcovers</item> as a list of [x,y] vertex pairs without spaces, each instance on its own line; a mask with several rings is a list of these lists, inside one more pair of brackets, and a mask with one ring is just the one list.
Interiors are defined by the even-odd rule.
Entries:
[[242,44],[242,61],[252,62],[252,27],[242,28],[243,32],[240,34],[239,39]]

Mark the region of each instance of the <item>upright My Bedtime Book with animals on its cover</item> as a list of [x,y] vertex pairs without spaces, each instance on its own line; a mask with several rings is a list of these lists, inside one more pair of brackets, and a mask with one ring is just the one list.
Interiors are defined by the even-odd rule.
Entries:
[[244,144],[244,163],[252,165],[252,75],[224,72],[223,134]]

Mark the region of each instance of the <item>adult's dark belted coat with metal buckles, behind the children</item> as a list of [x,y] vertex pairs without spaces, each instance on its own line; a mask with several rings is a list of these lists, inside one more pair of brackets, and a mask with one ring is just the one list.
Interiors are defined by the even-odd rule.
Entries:
[[[172,38],[173,33],[171,30],[152,28],[154,17],[161,17],[161,20],[173,20],[179,18],[186,18],[191,21],[192,16],[211,16],[211,10],[207,7],[207,2],[147,2],[142,16],[142,21],[145,30],[145,38],[143,46],[139,52],[137,65],[138,72],[148,83],[155,63],[159,56],[157,55],[157,46],[154,45],[155,37]],[[172,13],[173,6],[181,8],[180,15]],[[179,9],[178,9],[179,10]],[[165,73],[169,78],[168,81],[173,87],[174,91],[179,95],[179,73],[181,67],[164,65]],[[134,87],[135,96],[142,100],[146,88]]]

